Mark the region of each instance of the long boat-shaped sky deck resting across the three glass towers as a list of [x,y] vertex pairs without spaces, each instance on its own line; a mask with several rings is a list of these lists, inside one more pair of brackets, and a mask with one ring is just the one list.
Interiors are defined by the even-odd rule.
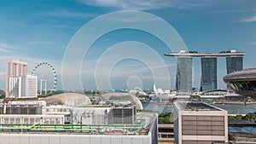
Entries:
[[204,57],[204,56],[244,56],[244,52],[236,52],[235,49],[230,51],[221,51],[219,53],[198,53],[197,51],[180,50],[179,52],[168,53],[166,56],[192,56],[192,57]]

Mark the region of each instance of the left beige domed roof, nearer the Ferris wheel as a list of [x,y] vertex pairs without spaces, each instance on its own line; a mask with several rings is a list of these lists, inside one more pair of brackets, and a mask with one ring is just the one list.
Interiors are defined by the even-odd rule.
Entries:
[[55,101],[67,106],[90,105],[90,98],[79,93],[62,93],[44,98],[47,104],[54,104]]

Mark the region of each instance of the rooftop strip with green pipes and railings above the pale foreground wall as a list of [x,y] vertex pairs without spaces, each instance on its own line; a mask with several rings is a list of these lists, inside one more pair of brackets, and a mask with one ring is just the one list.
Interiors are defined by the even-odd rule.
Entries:
[[[42,116],[40,116],[42,117]],[[135,124],[1,124],[2,133],[61,133],[68,135],[148,135],[157,113],[138,112]]]

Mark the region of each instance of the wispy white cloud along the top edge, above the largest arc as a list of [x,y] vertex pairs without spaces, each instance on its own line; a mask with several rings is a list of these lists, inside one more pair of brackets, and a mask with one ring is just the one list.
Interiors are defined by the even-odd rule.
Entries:
[[121,10],[148,10],[148,9],[188,9],[191,7],[201,6],[196,1],[179,2],[175,0],[78,0],[90,6],[108,7]]

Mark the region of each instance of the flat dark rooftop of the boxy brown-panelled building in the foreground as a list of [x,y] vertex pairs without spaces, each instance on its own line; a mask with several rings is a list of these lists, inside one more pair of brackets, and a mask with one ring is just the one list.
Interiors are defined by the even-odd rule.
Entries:
[[223,111],[204,102],[175,101],[174,105],[183,111]]

